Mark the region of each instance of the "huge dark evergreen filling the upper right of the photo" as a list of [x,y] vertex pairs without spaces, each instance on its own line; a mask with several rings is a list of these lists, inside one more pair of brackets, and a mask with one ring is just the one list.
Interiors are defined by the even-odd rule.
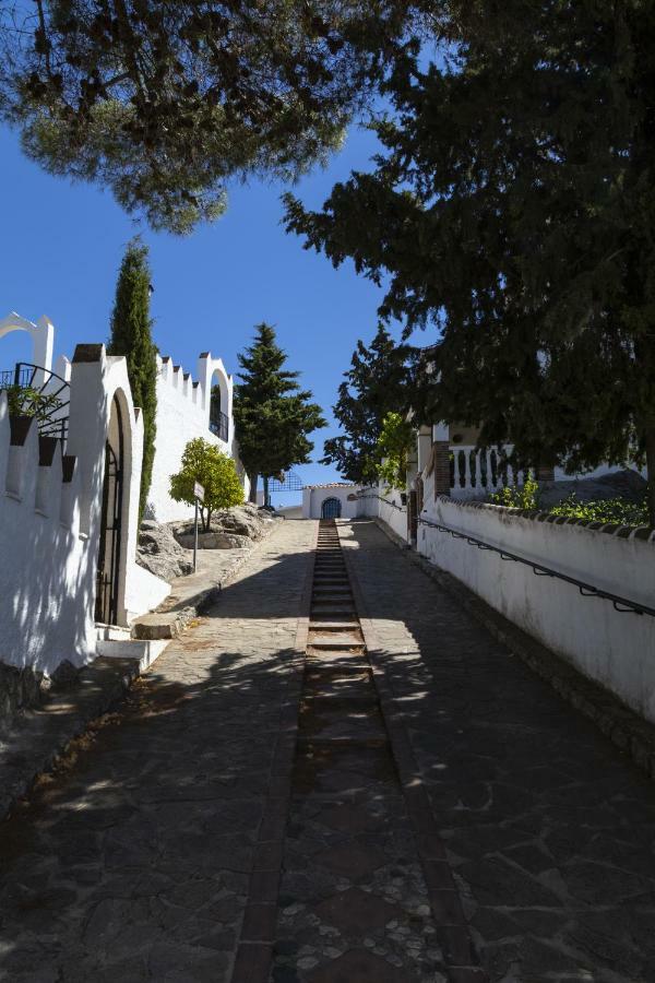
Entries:
[[524,462],[645,459],[655,524],[655,8],[436,7],[448,46],[397,61],[374,171],[288,197],[288,228],[436,325],[428,418]]

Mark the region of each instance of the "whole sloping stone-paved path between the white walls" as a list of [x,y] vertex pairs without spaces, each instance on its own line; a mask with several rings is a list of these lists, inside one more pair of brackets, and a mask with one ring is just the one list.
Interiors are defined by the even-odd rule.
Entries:
[[315,530],[0,826],[0,980],[472,983],[465,915],[491,981],[653,983],[655,786],[371,522],[303,640]]

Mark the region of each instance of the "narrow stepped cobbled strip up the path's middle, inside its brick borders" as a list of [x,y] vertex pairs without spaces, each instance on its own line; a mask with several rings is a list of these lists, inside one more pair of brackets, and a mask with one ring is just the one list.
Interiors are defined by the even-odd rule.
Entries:
[[444,983],[336,530],[321,525],[271,980]]

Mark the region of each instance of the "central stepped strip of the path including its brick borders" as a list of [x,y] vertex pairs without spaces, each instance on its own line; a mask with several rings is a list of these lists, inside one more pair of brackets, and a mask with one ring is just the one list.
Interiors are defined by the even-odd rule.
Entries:
[[[269,873],[277,904],[267,928],[259,920],[259,935],[241,935],[233,983],[484,983],[405,725],[367,651],[356,593],[337,526],[322,520],[290,794],[279,817],[284,853]],[[250,910],[263,912],[257,900],[251,891]]]

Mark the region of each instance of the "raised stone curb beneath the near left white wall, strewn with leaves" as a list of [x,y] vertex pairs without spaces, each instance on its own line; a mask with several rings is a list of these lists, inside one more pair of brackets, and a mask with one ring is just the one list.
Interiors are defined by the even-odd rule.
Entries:
[[99,658],[70,690],[38,710],[19,714],[0,736],[0,820],[26,795],[36,778],[51,771],[68,745],[92,720],[107,713],[140,675],[138,659]]

